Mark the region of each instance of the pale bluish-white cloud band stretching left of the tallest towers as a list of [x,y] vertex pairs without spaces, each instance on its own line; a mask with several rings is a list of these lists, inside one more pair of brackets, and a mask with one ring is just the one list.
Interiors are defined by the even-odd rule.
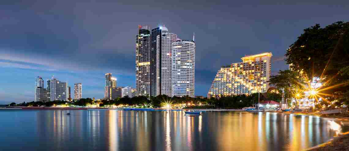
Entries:
[[[94,56],[94,57],[92,57]],[[101,57],[99,57],[101,56]],[[77,57],[55,57],[45,56],[37,53],[9,53],[0,52],[0,67],[17,67],[23,69],[37,69],[45,71],[67,71],[72,73],[81,72],[105,72],[116,73],[119,75],[134,75],[133,68],[126,68],[129,65],[127,62],[118,60],[115,57],[110,57],[104,54],[91,54],[89,56]],[[55,57],[55,58],[54,58]],[[109,59],[105,59],[108,58]],[[101,58],[101,59],[99,59]],[[125,58],[125,57],[122,57]],[[118,61],[115,64],[124,64],[114,66],[112,62]],[[133,62],[133,61],[132,61]]]

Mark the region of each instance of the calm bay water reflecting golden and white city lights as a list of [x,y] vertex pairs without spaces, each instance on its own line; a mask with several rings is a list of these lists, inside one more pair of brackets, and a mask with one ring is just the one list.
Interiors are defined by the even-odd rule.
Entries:
[[23,110],[0,116],[6,120],[0,125],[3,150],[295,151],[342,132],[334,121],[268,112],[193,117],[181,111]]

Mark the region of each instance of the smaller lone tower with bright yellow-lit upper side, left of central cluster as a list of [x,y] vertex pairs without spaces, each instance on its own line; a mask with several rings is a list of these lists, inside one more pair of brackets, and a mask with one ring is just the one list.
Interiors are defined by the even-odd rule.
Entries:
[[105,74],[105,92],[104,98],[108,100],[114,100],[117,97],[121,97],[121,88],[117,88],[116,78],[112,77],[111,73]]

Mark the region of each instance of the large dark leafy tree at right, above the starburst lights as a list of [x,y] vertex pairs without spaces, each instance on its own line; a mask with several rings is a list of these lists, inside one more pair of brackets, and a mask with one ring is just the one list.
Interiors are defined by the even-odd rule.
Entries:
[[[321,28],[319,24],[304,30],[285,54],[287,63],[302,72],[307,80],[320,77],[326,87],[323,97],[348,104],[349,98],[349,22],[336,22]],[[321,90],[320,90],[321,91]],[[329,97],[329,96],[336,97]]]

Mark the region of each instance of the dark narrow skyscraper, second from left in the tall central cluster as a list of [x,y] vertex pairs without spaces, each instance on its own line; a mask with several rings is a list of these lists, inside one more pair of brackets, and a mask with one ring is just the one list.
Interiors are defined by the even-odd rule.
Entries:
[[[150,43],[150,95],[156,96],[157,88],[161,84],[161,37],[167,33],[168,29],[165,26],[156,27],[151,30]],[[160,80],[160,81],[159,81]],[[161,94],[161,89],[159,90]]]

